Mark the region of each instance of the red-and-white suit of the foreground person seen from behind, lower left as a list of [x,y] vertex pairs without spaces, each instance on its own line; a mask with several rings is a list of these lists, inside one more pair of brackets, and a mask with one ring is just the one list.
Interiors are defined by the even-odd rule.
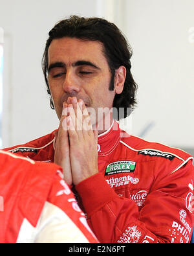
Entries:
[[0,242],[96,242],[61,169],[0,150]]

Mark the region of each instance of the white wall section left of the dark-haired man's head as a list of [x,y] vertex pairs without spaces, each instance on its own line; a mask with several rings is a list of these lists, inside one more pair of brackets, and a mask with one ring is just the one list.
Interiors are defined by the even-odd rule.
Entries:
[[3,146],[27,142],[58,128],[49,106],[41,57],[48,31],[71,14],[96,16],[92,0],[0,0],[5,30]]

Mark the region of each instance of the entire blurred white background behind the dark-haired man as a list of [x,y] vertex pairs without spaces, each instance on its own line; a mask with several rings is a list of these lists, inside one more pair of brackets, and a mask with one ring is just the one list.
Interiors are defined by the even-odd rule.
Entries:
[[41,58],[48,31],[72,14],[113,21],[133,48],[138,106],[123,124],[125,130],[194,154],[193,0],[0,0],[5,33],[2,146],[58,128]]

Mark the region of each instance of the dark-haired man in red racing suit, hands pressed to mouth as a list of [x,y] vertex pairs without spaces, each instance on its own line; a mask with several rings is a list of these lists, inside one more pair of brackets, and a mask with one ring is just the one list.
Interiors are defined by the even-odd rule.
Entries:
[[72,16],[56,24],[43,72],[59,128],[6,150],[63,167],[100,242],[189,242],[193,157],[133,137],[113,118],[112,108],[119,120],[120,108],[127,117],[136,103],[131,54],[104,19]]

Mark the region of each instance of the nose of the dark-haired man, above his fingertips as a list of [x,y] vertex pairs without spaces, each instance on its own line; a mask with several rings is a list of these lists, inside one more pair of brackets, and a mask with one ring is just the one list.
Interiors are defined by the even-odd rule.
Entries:
[[67,71],[65,80],[63,82],[63,90],[65,93],[78,93],[80,91],[80,85],[76,74],[72,71]]

